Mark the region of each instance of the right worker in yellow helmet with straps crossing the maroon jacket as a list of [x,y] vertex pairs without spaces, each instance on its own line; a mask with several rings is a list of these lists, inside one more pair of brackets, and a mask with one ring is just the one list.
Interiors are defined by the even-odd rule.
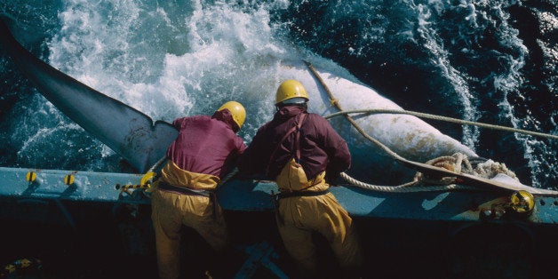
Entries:
[[[285,248],[300,267],[294,277],[357,277],[362,259],[353,219],[329,191],[330,183],[349,168],[351,155],[327,120],[307,112],[308,100],[299,81],[279,85],[275,116],[244,151],[239,174],[264,175],[277,183],[275,216]],[[342,268],[339,275],[321,273],[315,233],[331,244]]]

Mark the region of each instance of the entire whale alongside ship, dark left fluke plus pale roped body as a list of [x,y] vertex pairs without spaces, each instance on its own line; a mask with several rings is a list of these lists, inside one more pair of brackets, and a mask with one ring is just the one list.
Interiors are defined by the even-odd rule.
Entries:
[[[9,56],[36,84],[38,91],[86,132],[123,156],[138,171],[147,171],[164,156],[166,148],[177,135],[171,124],[153,121],[140,110],[108,97],[37,59],[12,36],[4,20],[0,22],[0,33]],[[286,79],[297,79],[309,94],[308,110],[322,116],[339,111],[331,104],[328,91],[346,110],[403,110],[360,83],[345,68],[323,58],[310,58],[309,61],[315,73],[304,60],[274,60],[267,63],[265,75],[254,77],[259,91],[265,92],[259,98],[268,100],[267,103],[272,106],[278,84]],[[471,148],[416,116],[374,114],[355,117],[355,122],[371,137],[409,160],[426,162],[456,152],[477,156]],[[357,179],[386,182],[400,180],[402,174],[403,177],[414,174],[414,171],[397,163],[377,145],[366,140],[344,117],[332,119],[331,124],[347,140],[352,154],[352,165],[347,171],[350,175]]]

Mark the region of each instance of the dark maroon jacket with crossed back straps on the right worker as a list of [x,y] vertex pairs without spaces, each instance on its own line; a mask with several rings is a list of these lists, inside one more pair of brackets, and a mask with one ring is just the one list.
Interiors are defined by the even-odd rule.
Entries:
[[[264,174],[275,179],[285,163],[294,155],[294,133],[292,133],[270,156],[283,138],[295,125],[299,114],[307,114],[300,127],[300,164],[308,179],[314,179],[322,171],[330,178],[346,171],[351,164],[347,142],[339,136],[331,124],[322,116],[308,114],[306,108],[287,106],[275,113],[274,119],[259,128],[250,146],[244,151],[238,169],[241,174]],[[269,163],[269,172],[266,172]]]

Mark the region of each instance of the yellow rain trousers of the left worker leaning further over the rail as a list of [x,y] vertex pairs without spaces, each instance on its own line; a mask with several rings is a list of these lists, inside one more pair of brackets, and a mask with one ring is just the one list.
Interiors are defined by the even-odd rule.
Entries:
[[[163,168],[161,176],[163,181],[170,184],[177,181],[190,184],[196,181],[192,188],[197,189],[215,188],[219,181],[219,178],[212,175],[180,170],[172,162]],[[173,185],[187,187],[187,185]],[[196,185],[198,187],[195,187]],[[213,214],[214,204],[211,198],[155,188],[151,206],[160,278],[179,277],[181,225],[194,228],[215,251],[223,252],[227,249],[228,233],[223,211],[218,206],[217,214]]]

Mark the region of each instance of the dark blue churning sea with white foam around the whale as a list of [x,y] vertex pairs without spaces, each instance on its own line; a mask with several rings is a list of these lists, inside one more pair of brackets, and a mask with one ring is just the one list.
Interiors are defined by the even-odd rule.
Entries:
[[[205,113],[226,99],[220,89],[243,82],[239,68],[295,46],[405,109],[558,133],[553,1],[4,1],[0,12],[37,56],[157,119]],[[1,48],[0,68],[0,165],[126,171]],[[248,107],[257,117],[243,129],[247,142],[268,115]],[[556,140],[429,123],[523,183],[558,188]]]

